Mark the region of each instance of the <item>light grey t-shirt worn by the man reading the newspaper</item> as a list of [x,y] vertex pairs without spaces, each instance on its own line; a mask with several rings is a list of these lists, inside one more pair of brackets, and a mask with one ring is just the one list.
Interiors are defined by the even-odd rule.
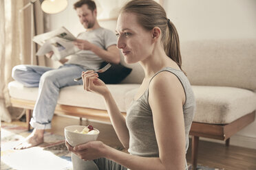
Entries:
[[[78,34],[78,39],[87,40],[94,45],[97,45],[101,49],[107,50],[111,45],[116,45],[117,38],[114,32],[109,29],[100,27],[89,32],[82,32]],[[69,56],[70,60],[67,64],[81,65],[85,69],[97,70],[100,68],[100,64],[104,61],[98,57],[94,52],[89,50],[80,50],[75,54]]]

